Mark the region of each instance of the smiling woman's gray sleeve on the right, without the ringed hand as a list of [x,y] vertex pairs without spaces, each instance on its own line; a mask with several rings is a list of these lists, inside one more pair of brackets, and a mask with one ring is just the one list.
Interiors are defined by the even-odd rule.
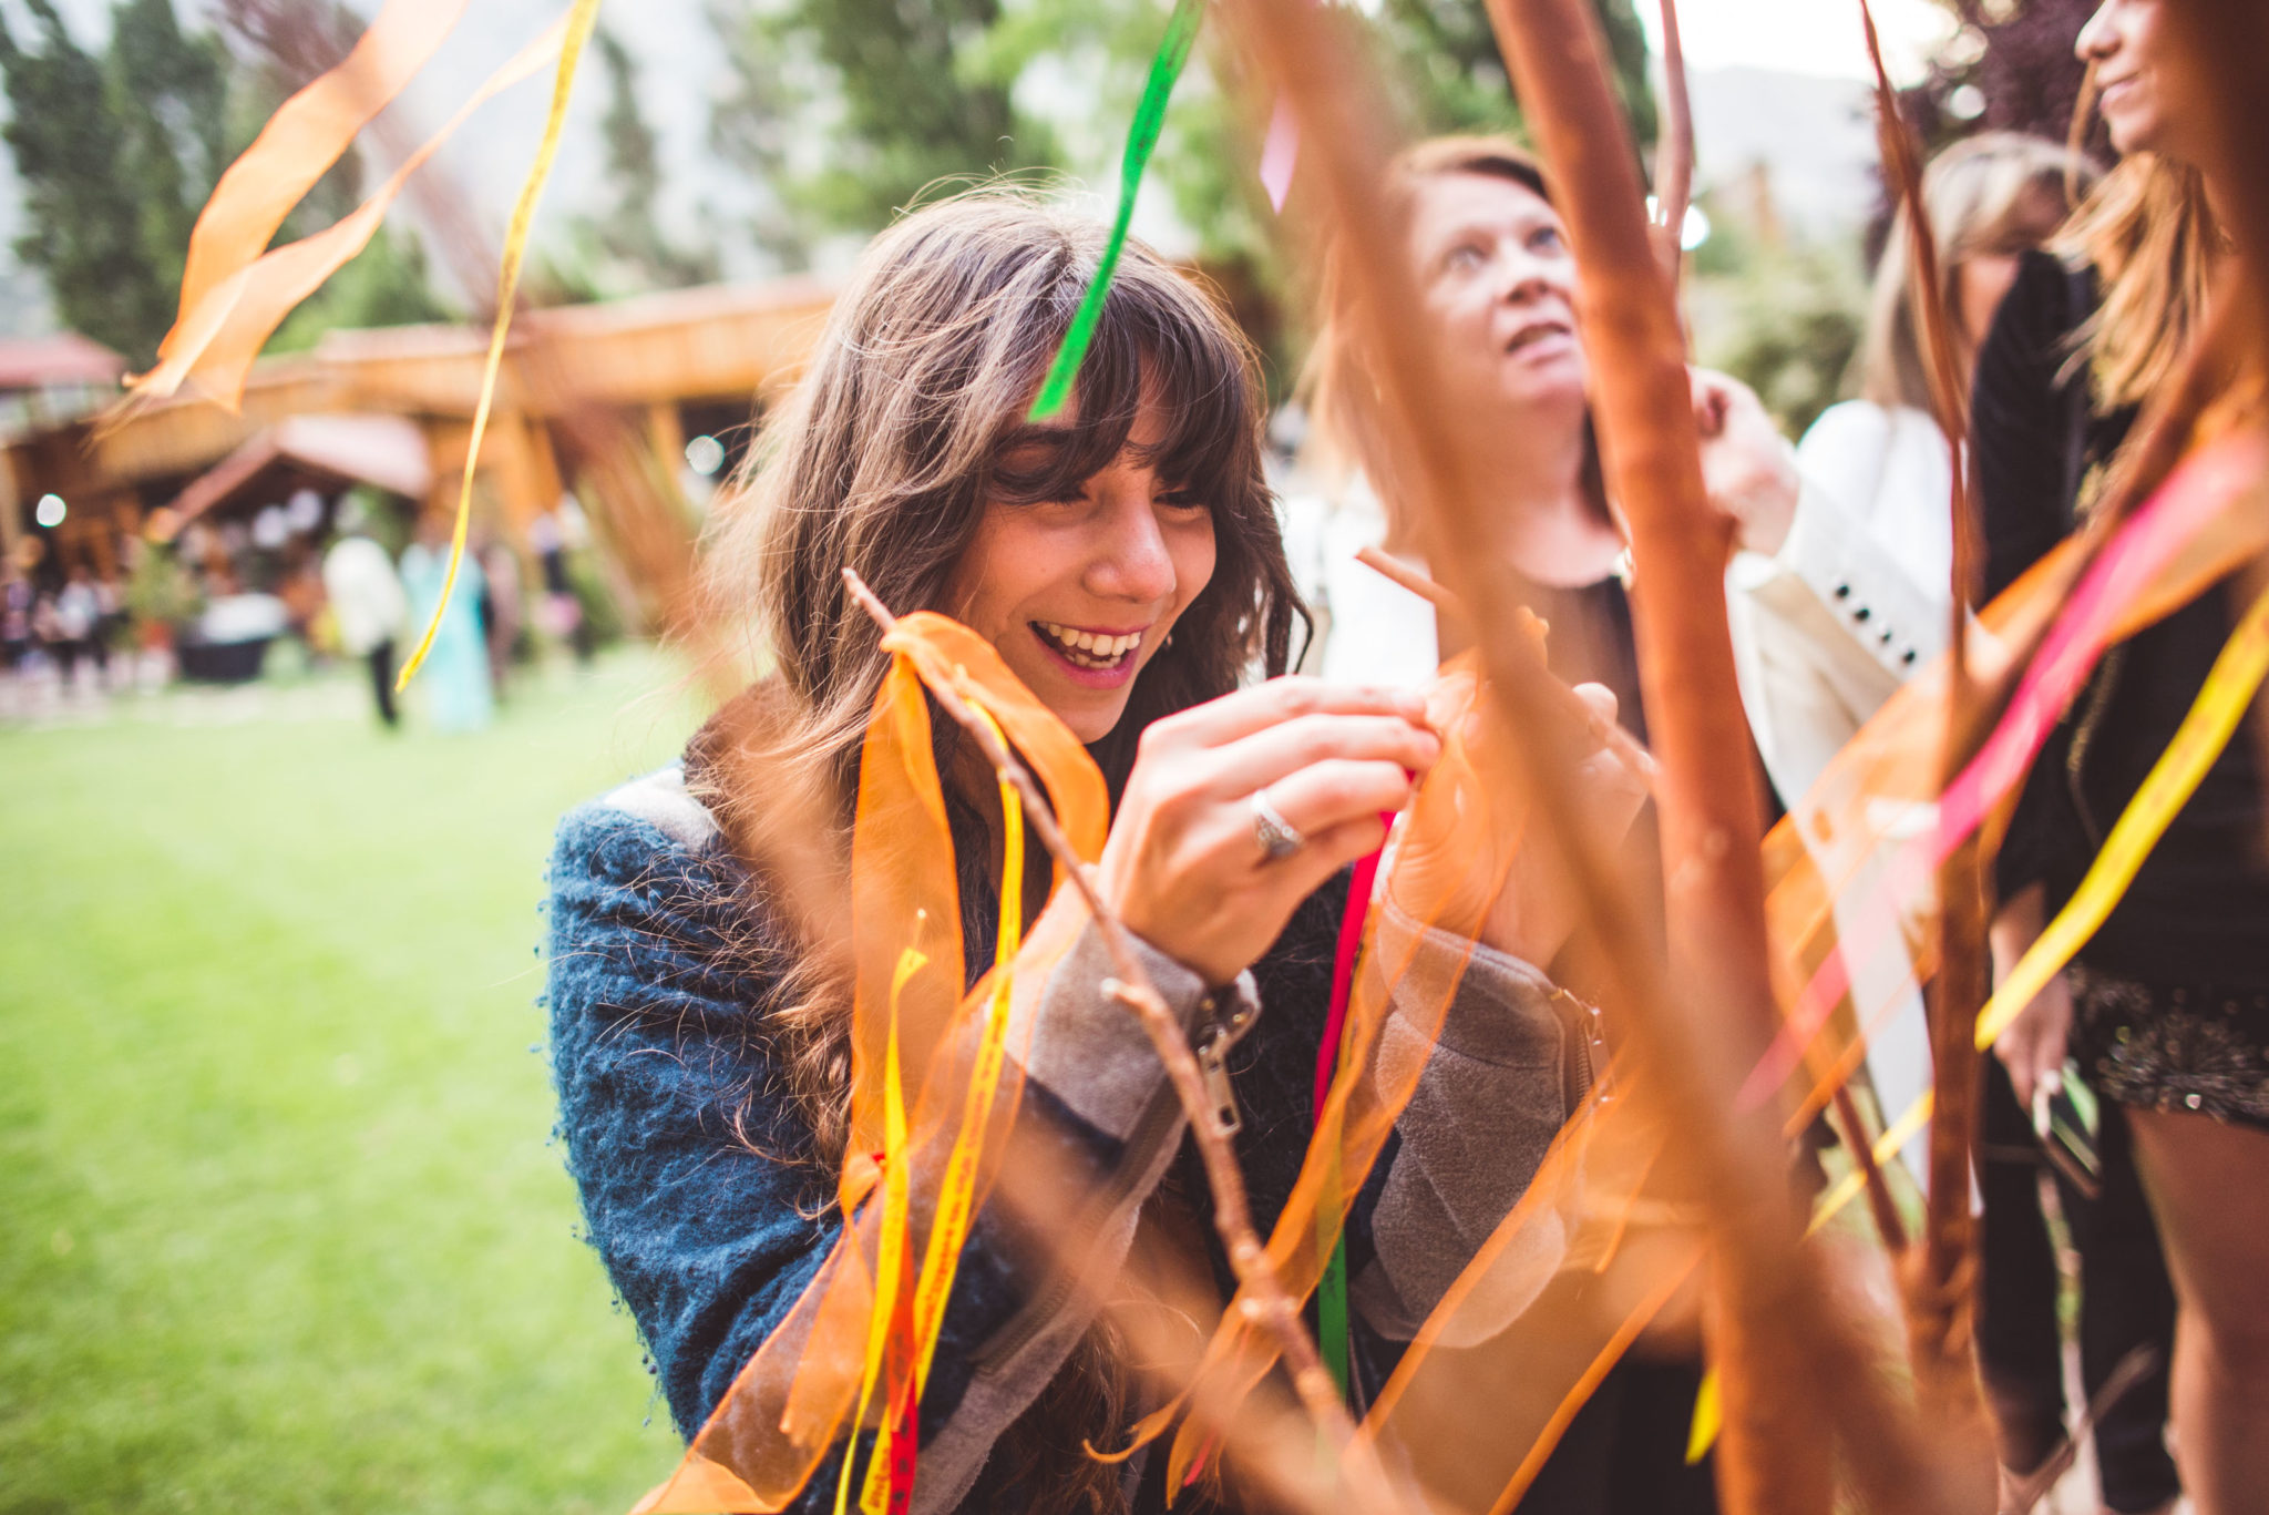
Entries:
[[[1429,1054],[1420,1006],[1459,965]],[[1563,1011],[1563,999],[1516,956],[1448,931],[1420,936],[1380,1033],[1377,1077],[1409,1077],[1414,1058],[1425,1058],[1425,1070],[1395,1127],[1402,1145],[1373,1211],[1377,1258],[1350,1290],[1377,1331],[1409,1340],[1543,1165],[1588,1081],[1595,1036],[1577,1024],[1588,1015]],[[1552,1277],[1561,1249],[1557,1220],[1541,1217],[1493,1263],[1482,1286],[1504,1297],[1477,1315],[1511,1320]]]

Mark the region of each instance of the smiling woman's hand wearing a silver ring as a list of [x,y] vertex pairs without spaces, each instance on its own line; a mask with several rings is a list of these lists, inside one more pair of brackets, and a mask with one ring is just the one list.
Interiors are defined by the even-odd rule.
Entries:
[[[1271,679],[1150,722],[1098,888],[1130,931],[1228,984],[1325,879],[1386,838],[1441,756],[1418,693]],[[1271,859],[1255,797],[1300,834]]]

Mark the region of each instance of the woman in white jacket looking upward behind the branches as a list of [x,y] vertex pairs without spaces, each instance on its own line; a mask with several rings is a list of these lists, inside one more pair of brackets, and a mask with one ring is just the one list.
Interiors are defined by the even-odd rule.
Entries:
[[[1618,720],[1645,740],[1638,647],[1627,595],[1627,543],[1611,509],[1591,429],[1588,361],[1575,318],[1575,257],[1536,161],[1507,139],[1445,136],[1418,143],[1391,168],[1393,207],[1436,352],[1439,418],[1493,482],[1488,525],[1495,561],[1547,625],[1545,654],[1568,684],[1602,684]],[[1416,686],[1464,643],[1464,627],[1355,561],[1380,545],[1423,568],[1407,463],[1393,457],[1380,416],[1380,366],[1332,293],[1307,375],[1311,454],[1330,500],[1289,500],[1287,556],[1318,618],[1321,650],[1302,659],[1330,681]],[[1736,518],[1795,509],[1788,443],[1756,395],[1702,375],[1709,416],[1709,484]],[[1754,500],[1752,495],[1783,495]],[[1661,845],[1652,809],[1618,854],[1631,897],[1659,929]],[[1581,990],[1597,972],[1581,938],[1554,974]],[[1699,1374],[1675,1349],[1650,1347],[1618,1363],[1577,1413],[1520,1508],[1711,1510],[1706,1467],[1686,1463]]]

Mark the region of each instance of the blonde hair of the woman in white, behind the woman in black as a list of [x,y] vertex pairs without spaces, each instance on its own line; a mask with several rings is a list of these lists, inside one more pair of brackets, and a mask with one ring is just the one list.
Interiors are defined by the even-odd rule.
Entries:
[[[1965,261],[2024,252],[2047,243],[2065,211],[2072,184],[2094,184],[2097,170],[2060,143],[2022,132],[1983,132],[1931,159],[1922,175],[1922,204],[1938,243],[1940,298],[1956,304]],[[1931,409],[1929,363],[1922,352],[1920,291],[1915,288],[1913,232],[1901,204],[1874,270],[1867,334],[1854,363],[1858,393],[1886,409]],[[1983,332],[1967,332],[1974,345]]]

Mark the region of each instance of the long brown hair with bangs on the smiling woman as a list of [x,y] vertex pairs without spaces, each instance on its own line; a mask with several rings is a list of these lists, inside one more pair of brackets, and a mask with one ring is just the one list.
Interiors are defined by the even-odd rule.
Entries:
[[[1289,663],[1305,620],[1262,475],[1262,384],[1223,307],[1128,243],[1080,368],[1073,445],[1051,477],[998,459],[1026,427],[1103,229],[1030,193],[989,189],[914,211],[878,236],[835,304],[810,373],[765,427],[717,511],[708,588],[749,627],[769,672],[694,743],[692,784],[751,865],[751,904],[781,974],[753,1027],[778,1054],[812,1133],[842,1156],[849,1118],[849,968],[840,952],[858,754],[887,659],[842,568],[894,609],[939,609],[953,566],[994,504],[1060,497],[1128,443],[1137,407],[1164,422],[1153,466],[1212,507],[1214,575],[1134,679],[1125,715],[1089,752],[1116,795],[1141,729]],[[958,731],[933,720],[953,786]],[[794,906],[801,870],[803,909]],[[964,877],[969,870],[964,868]],[[830,934],[837,949],[830,949]],[[987,1485],[1035,1508],[1105,1508],[1119,1470],[1082,1456],[1123,1404],[1098,1326],[1001,1440]]]

